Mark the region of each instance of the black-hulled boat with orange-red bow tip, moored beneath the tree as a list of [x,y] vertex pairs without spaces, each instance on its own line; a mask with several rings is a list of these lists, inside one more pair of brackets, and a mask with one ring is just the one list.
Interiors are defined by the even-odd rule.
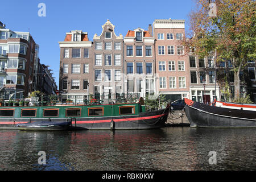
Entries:
[[256,127],[256,112],[210,106],[184,99],[191,127]]

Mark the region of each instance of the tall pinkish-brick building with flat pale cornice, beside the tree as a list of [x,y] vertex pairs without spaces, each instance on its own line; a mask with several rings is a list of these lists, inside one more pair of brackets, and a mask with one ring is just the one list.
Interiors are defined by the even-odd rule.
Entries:
[[189,61],[181,40],[185,38],[185,20],[155,19],[156,92],[167,100],[189,97]]

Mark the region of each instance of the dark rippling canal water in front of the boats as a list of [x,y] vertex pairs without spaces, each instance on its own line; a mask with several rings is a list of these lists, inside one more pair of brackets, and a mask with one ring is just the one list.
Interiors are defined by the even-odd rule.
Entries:
[[0,170],[255,169],[256,129],[0,130]]

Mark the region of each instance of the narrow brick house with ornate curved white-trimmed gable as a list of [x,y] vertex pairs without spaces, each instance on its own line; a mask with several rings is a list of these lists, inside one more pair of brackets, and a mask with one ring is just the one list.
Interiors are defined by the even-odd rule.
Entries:
[[108,100],[124,92],[123,36],[117,36],[115,26],[107,20],[100,35],[93,36],[93,94],[94,98]]

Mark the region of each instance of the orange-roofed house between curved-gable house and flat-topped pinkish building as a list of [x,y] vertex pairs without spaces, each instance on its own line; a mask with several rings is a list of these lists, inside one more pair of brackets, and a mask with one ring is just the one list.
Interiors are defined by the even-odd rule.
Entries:
[[151,24],[147,31],[142,28],[129,30],[123,41],[125,92],[139,93],[141,97],[155,94],[155,38]]

